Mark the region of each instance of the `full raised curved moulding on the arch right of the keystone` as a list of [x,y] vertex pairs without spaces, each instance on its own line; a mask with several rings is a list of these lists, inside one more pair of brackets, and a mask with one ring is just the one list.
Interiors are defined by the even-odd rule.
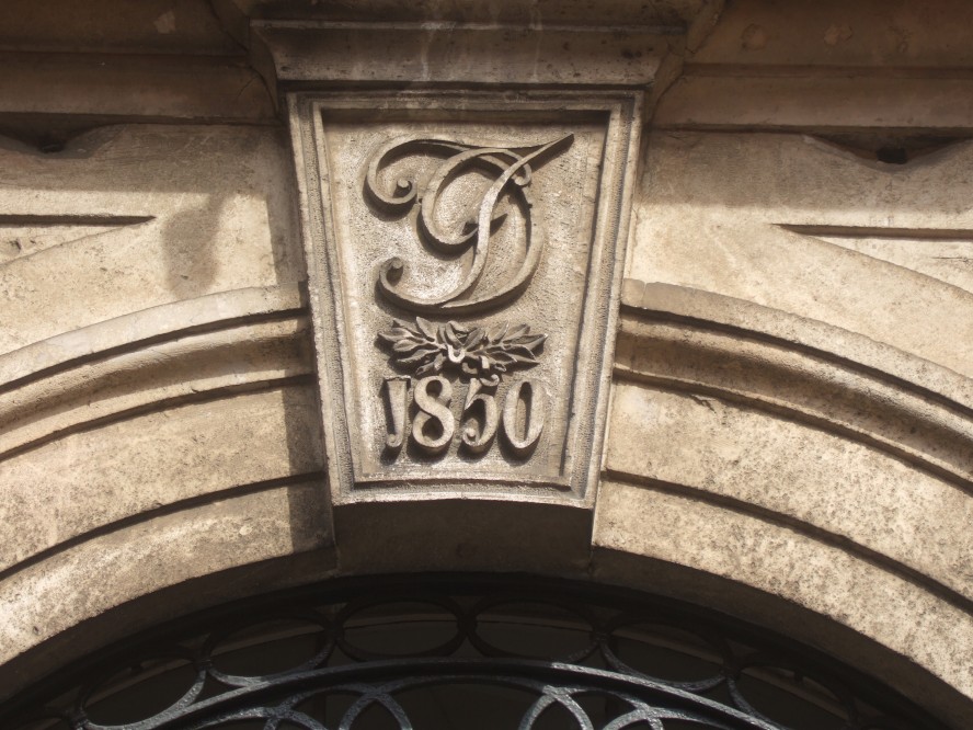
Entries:
[[973,490],[973,383],[824,322],[628,280],[615,375],[777,412]]

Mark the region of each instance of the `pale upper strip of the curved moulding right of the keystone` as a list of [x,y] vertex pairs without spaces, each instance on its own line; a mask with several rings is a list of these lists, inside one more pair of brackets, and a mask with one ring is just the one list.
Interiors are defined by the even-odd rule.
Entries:
[[803,352],[914,391],[973,419],[973,379],[827,322],[722,294],[631,278],[622,288],[622,312],[634,319],[686,322]]

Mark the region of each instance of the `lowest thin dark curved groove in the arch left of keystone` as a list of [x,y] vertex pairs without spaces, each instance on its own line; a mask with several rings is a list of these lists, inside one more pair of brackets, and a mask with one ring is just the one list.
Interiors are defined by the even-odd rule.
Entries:
[[159,517],[163,517],[165,515],[175,514],[178,512],[184,512],[186,510],[192,510],[199,506],[205,506],[213,502],[219,502],[226,499],[233,499],[237,497],[244,497],[247,494],[255,494],[257,492],[264,492],[271,489],[277,489],[279,487],[287,487],[290,484],[299,484],[302,482],[320,482],[324,479],[323,471],[312,471],[308,474],[295,474],[288,475],[286,477],[279,477],[277,479],[267,479],[265,481],[257,481],[250,484],[234,484],[232,487],[227,487],[226,489],[220,489],[215,492],[207,492],[205,494],[197,494],[195,497],[190,497],[184,500],[180,500],[178,502],[171,502],[169,504],[162,504],[160,506],[153,507],[151,510],[146,510],[144,512],[138,512],[136,514],[128,515],[127,517],[123,517],[121,520],[116,520],[114,522],[106,523],[104,525],[100,525],[94,529],[90,529],[85,533],[81,533],[78,535],[73,535],[66,540],[57,543],[56,545],[51,545],[48,548],[43,550],[38,550],[33,555],[24,558],[23,560],[19,560],[12,566],[3,568],[0,570],[0,582],[5,581],[11,575],[30,568],[38,562],[44,562],[48,560],[58,552],[64,552],[65,550],[70,550],[71,548],[81,545],[82,543],[87,543],[89,540],[95,539],[98,537],[102,537],[103,535],[110,535],[112,533],[116,533],[121,529],[125,529],[126,527],[130,527],[133,525],[137,525],[139,523],[149,522],[151,520],[158,520]]

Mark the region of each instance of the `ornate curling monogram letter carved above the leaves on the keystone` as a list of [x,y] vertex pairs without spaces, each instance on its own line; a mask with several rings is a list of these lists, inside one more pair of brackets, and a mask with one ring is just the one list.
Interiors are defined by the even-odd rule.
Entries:
[[[527,288],[542,251],[541,238],[530,216],[528,186],[531,180],[531,163],[537,166],[568,149],[574,135],[568,134],[558,139],[529,147],[477,147],[444,139],[397,137],[382,145],[368,161],[365,175],[365,197],[379,212],[387,215],[405,215],[413,206],[420,206],[417,216],[422,240],[439,253],[459,255],[473,250],[472,263],[458,286],[451,292],[436,297],[421,297],[409,294],[399,287],[405,271],[405,262],[399,256],[386,261],[380,269],[378,287],[390,301],[403,309],[417,312],[466,313],[476,312],[505,304]],[[432,178],[420,191],[416,181],[399,179],[389,193],[379,183],[379,173],[389,164],[409,155],[428,153],[435,157],[448,155],[434,171]],[[444,230],[436,218],[436,207],[446,187],[463,172],[473,168],[486,170],[495,176],[493,184],[480,198],[477,219],[469,221],[458,231]],[[477,283],[483,273],[490,237],[495,224],[504,214],[496,213],[496,205],[504,193],[518,198],[526,219],[524,258],[517,270],[485,292],[477,290]]]

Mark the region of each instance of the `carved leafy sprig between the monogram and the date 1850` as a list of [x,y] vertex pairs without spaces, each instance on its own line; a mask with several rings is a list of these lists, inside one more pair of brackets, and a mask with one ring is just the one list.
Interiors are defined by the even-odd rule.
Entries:
[[454,321],[436,324],[422,317],[415,318],[414,327],[398,319],[392,324],[378,337],[391,346],[394,365],[414,368],[415,377],[458,368],[484,386],[497,385],[502,373],[537,365],[547,339],[547,334],[531,333],[527,324],[467,329]]

